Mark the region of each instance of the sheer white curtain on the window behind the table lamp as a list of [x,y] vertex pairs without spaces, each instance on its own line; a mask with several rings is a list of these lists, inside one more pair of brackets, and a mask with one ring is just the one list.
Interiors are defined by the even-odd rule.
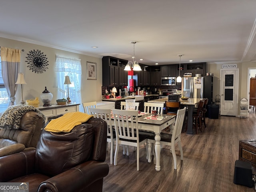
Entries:
[[57,73],[58,98],[67,98],[67,85],[64,85],[65,76],[69,76],[72,84],[68,85],[71,103],[78,103],[79,111],[84,112],[81,99],[81,60],[56,55],[55,71]]

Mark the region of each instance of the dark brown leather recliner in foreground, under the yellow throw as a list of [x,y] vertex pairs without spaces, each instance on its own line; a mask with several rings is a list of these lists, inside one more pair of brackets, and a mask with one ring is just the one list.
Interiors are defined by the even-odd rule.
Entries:
[[102,192],[106,144],[107,124],[98,118],[68,133],[43,130],[36,149],[0,158],[0,182],[29,182],[31,192]]

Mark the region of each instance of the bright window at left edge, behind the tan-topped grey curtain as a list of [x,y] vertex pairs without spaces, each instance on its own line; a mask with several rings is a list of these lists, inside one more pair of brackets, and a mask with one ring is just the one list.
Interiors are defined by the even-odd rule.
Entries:
[[8,94],[4,86],[2,77],[2,62],[0,57],[0,113],[4,112],[9,106]]

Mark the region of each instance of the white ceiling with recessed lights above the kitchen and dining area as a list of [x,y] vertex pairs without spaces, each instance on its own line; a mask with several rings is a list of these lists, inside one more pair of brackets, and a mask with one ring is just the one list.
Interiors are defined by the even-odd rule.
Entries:
[[136,40],[148,65],[250,62],[255,19],[256,0],[1,0],[0,37],[126,60]]

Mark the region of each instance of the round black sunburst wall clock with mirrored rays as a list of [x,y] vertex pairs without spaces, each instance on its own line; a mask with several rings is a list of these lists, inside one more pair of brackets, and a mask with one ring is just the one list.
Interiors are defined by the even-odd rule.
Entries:
[[28,63],[27,67],[29,67],[32,72],[43,73],[48,69],[48,58],[44,55],[44,52],[41,52],[40,50],[31,50],[26,58],[26,62]]

